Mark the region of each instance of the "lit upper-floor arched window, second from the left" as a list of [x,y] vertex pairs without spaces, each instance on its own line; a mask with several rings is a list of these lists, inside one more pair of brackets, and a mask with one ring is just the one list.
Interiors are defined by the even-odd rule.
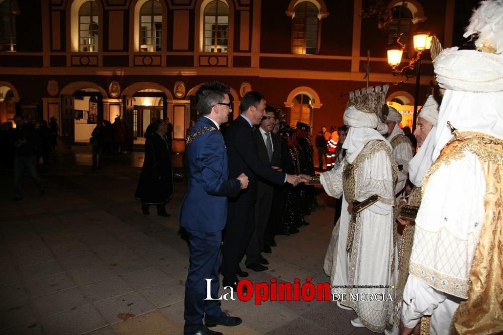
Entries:
[[98,6],[89,0],[78,11],[78,50],[80,52],[98,51]]

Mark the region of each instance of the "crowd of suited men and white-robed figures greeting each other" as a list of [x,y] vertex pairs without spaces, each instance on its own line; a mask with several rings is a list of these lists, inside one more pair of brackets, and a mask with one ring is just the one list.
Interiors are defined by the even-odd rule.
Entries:
[[[229,88],[207,83],[199,89],[202,117],[186,141],[189,188],[179,217],[190,245],[184,333],[215,334],[209,327],[242,322],[224,314],[219,300],[204,299],[206,280],[216,296],[220,273],[234,290],[238,277],[248,275],[239,268],[244,256],[248,269],[267,269],[261,252],[274,245],[269,234],[296,233],[307,224],[314,184],[341,199],[324,271],[331,293],[347,297],[337,306],[356,312],[354,327],[393,334],[503,332],[497,293],[503,285],[503,50],[497,40],[503,3],[483,2],[474,18],[467,35],[479,36],[472,43],[432,53],[438,87],[413,134],[400,128],[402,116],[393,107],[376,106],[370,95],[350,98],[345,126],[323,127],[316,136],[318,166],[327,152],[331,167],[321,174],[314,172],[309,125],[281,126],[264,96],[251,91],[224,138],[219,129],[232,108]],[[349,298],[362,295],[367,298]]]

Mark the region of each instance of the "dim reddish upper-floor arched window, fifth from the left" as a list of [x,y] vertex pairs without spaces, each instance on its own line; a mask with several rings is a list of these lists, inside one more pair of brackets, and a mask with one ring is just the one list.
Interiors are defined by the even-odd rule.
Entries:
[[292,19],[292,53],[318,53],[319,9],[313,3],[298,3]]

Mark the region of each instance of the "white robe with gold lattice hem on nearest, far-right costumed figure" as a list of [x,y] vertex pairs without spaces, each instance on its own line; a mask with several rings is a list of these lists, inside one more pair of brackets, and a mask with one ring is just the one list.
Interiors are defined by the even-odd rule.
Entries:
[[431,315],[430,333],[446,334],[459,303],[467,298],[486,182],[478,158],[466,152],[442,164],[423,188],[401,319],[413,328],[422,315]]

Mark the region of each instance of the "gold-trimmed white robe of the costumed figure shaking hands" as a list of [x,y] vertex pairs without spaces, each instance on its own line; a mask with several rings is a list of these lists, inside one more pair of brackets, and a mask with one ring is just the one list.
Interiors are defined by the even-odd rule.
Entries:
[[[346,247],[350,215],[346,211],[346,200],[350,199],[345,199],[340,224],[333,230],[325,257],[325,271],[330,270],[331,285],[394,285],[397,275],[396,236],[393,229],[396,170],[393,171],[391,150],[384,140],[370,141],[353,164],[353,168],[356,169],[354,170],[355,200],[363,201],[373,194],[380,195],[382,199],[356,215],[349,253],[346,252]],[[339,195],[343,192],[341,169],[323,173],[320,180],[329,195]],[[345,198],[346,195],[345,192]],[[330,258],[332,258],[331,267]],[[348,297],[350,294],[383,294],[384,297],[391,294],[394,298],[394,291],[391,288],[351,287],[341,288],[336,292],[347,293]],[[362,323],[375,332],[384,330],[393,312],[392,301],[341,303],[353,308]]]

